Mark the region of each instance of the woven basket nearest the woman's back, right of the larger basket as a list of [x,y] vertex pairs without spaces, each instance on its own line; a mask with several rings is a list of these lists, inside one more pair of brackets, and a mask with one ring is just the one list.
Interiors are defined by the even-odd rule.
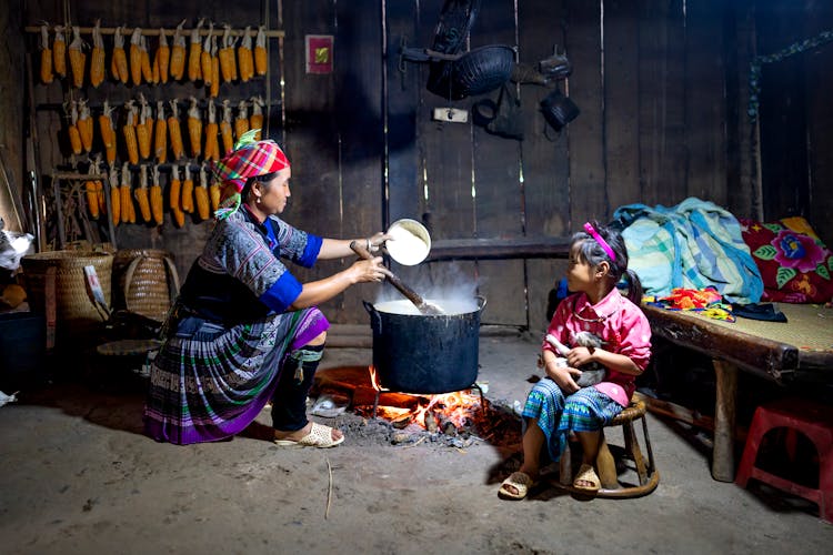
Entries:
[[164,321],[179,292],[171,253],[158,249],[123,249],[113,259],[113,309],[126,309]]

